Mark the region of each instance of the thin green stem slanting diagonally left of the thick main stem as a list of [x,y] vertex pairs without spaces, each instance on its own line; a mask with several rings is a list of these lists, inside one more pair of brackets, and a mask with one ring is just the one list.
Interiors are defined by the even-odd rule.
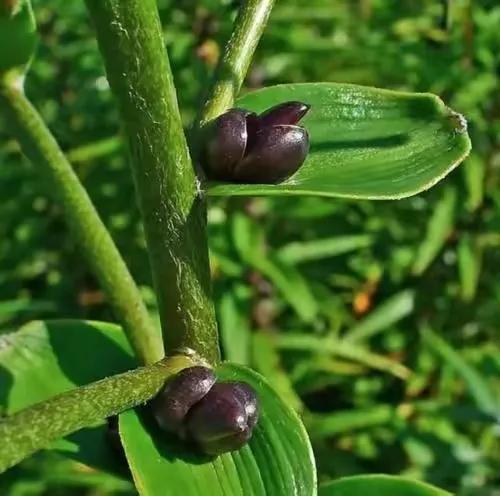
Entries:
[[163,356],[159,333],[127,266],[70,163],[15,81],[0,83],[0,114],[22,151],[48,180],[138,359],[145,364],[159,360]]

